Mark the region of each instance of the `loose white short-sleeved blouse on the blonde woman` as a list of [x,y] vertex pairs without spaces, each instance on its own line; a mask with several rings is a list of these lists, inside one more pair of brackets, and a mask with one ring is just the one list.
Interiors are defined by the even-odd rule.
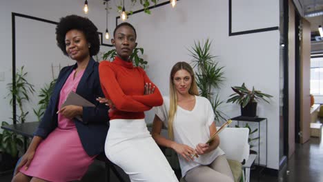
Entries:
[[[168,128],[168,111],[170,108],[169,97],[164,97],[164,104],[155,107],[155,113]],[[185,144],[191,148],[196,148],[198,143],[206,143],[210,139],[210,125],[214,122],[215,114],[212,105],[205,97],[195,96],[195,106],[193,110],[184,110],[177,105],[177,111],[173,121],[174,141]],[[188,170],[198,165],[209,165],[217,156],[224,152],[218,147],[215,150],[195,158],[194,161],[186,161],[178,155],[179,165],[181,166],[182,176]]]

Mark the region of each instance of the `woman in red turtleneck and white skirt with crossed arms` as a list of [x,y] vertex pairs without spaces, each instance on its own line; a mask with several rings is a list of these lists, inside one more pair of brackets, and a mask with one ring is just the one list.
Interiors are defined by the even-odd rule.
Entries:
[[110,104],[110,128],[105,152],[131,181],[177,181],[164,154],[150,136],[144,111],[163,103],[158,88],[146,72],[134,67],[129,59],[136,47],[137,34],[130,23],[121,23],[111,42],[117,56],[112,62],[101,61],[101,88]]

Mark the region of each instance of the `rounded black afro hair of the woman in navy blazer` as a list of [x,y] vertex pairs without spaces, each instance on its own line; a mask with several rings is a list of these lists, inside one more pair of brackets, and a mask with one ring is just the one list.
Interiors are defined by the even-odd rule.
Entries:
[[89,48],[91,57],[99,52],[100,41],[95,24],[86,17],[79,17],[73,14],[62,17],[56,27],[57,46],[63,51],[63,54],[68,55],[66,52],[65,36],[70,30],[79,30],[84,33],[86,41],[91,45]]

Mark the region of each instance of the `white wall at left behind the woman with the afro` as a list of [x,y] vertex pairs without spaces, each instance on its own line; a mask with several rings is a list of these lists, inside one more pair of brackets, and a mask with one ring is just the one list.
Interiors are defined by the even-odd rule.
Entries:
[[[68,14],[78,14],[88,17],[95,23],[99,32],[106,30],[106,11],[102,1],[91,1],[90,11],[86,15],[82,12],[84,1],[70,0],[10,0],[0,1],[0,73],[4,74],[4,80],[0,81],[0,121],[10,121],[12,107],[6,84],[12,81],[12,12],[26,14],[32,17],[58,22],[61,17]],[[110,21],[111,22],[111,21]],[[23,17],[16,17],[16,68],[25,66],[28,72],[28,81],[35,85],[37,92],[44,83],[52,79],[51,64],[55,67],[55,76],[59,72],[58,65],[72,65],[75,62],[63,56],[56,45],[55,25],[43,21],[35,21]],[[115,22],[113,23],[115,25]],[[104,40],[104,43],[108,41]],[[106,52],[110,48],[101,46],[100,52]],[[29,111],[27,121],[36,121],[32,108],[37,107],[37,93],[32,97],[31,104],[25,108]],[[18,111],[18,110],[17,110]]]

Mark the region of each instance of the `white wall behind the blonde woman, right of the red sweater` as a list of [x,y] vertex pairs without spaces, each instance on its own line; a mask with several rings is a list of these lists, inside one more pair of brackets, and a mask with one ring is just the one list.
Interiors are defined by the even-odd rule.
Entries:
[[[233,1],[233,32],[257,28],[279,26],[279,2],[277,1]],[[257,21],[249,22],[251,17]],[[259,20],[262,21],[259,21]],[[128,22],[137,29],[137,42],[145,50],[149,68],[147,70],[161,90],[168,94],[170,68],[177,61],[190,61],[187,48],[194,41],[213,40],[212,53],[223,65],[226,81],[219,91],[221,99],[226,100],[233,92],[231,86],[253,85],[258,90],[273,95],[271,104],[258,103],[258,115],[268,118],[268,168],[279,168],[279,49],[278,30],[228,36],[228,1],[178,1],[175,9],[170,5],[152,10],[152,14],[140,12],[130,16]],[[120,23],[120,20],[119,20]],[[246,26],[244,26],[246,25]],[[222,105],[228,117],[240,115],[239,106],[231,103]],[[148,112],[147,122],[153,121],[153,113]],[[263,126],[264,127],[264,126]],[[264,128],[261,128],[264,131]],[[262,136],[265,139],[265,136]],[[261,141],[262,146],[265,141]],[[266,151],[261,150],[260,163]]]

